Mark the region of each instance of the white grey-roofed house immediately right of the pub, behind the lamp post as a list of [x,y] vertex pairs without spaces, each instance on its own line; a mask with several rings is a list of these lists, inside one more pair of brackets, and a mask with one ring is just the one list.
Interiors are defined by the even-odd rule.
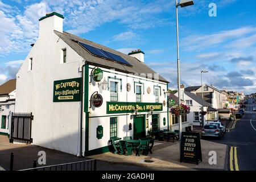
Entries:
[[[189,125],[200,126],[202,125],[202,119],[205,124],[218,120],[218,110],[214,109],[207,101],[202,100],[202,98],[196,94],[185,91],[184,85],[181,85],[180,95],[185,105],[191,108],[190,113],[187,114],[187,123],[189,123]],[[177,96],[177,93],[175,96]],[[207,114],[202,115],[201,111],[205,111]]]

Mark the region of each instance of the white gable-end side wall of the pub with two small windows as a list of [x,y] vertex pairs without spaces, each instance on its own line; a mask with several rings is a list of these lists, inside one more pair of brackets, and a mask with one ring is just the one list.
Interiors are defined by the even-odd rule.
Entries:
[[[52,27],[51,16],[40,22]],[[52,19],[52,20],[51,20]],[[59,19],[60,20],[60,19]],[[16,80],[16,112],[32,112],[33,144],[76,155],[79,151],[80,102],[53,102],[53,81],[81,77],[82,58],[53,30],[40,30]],[[61,52],[67,48],[67,63]],[[28,71],[32,57],[32,71]]]

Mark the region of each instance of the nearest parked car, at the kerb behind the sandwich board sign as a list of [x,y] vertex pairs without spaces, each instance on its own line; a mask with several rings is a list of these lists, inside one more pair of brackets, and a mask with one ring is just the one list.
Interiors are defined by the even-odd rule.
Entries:
[[201,138],[203,137],[217,137],[221,139],[223,136],[222,130],[218,125],[205,125],[201,132]]

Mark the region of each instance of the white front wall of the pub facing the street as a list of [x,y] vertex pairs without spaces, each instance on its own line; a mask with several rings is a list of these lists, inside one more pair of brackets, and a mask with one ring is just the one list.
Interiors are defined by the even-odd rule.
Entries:
[[[89,67],[89,75],[92,72],[93,66]],[[167,95],[164,94],[164,91],[167,91],[167,84],[164,82],[154,81],[122,72],[116,72],[111,70],[109,73],[109,69],[101,68],[103,72],[103,78],[101,81],[106,79],[108,81],[108,77],[116,76],[117,79],[122,79],[122,91],[120,88],[120,82],[118,82],[118,102],[136,102],[136,94],[134,93],[134,81],[139,82],[141,81],[144,83],[144,94],[143,94],[143,85],[142,85],[142,102],[155,102],[154,96],[154,85],[158,85],[161,87],[161,96],[159,97],[159,103],[163,103],[165,100],[167,103]],[[90,78],[89,78],[90,81]],[[112,80],[109,81],[119,81],[119,80]],[[130,92],[126,90],[126,84],[129,83],[131,85]],[[110,83],[109,83],[110,84]],[[150,94],[147,93],[147,88],[150,87],[151,92]],[[105,147],[108,145],[108,140],[110,139],[110,117],[118,117],[118,137],[123,138],[126,136],[133,137],[133,119],[131,119],[131,113],[127,113],[127,115],[123,115],[126,113],[120,114],[106,114],[106,102],[110,101],[110,90],[102,90],[101,86],[98,86],[98,83],[92,79],[92,83],[89,85],[89,98],[90,96],[98,91],[99,94],[103,97],[103,104],[100,107],[90,109],[90,117],[89,118],[89,150],[94,150],[96,148]],[[138,115],[147,114],[147,112],[138,113]],[[159,129],[167,129],[168,128],[168,117],[167,117],[167,104],[163,106],[163,111],[155,111],[153,114],[159,114]],[[119,116],[118,116],[119,115]],[[102,117],[104,116],[104,117]],[[163,118],[166,118],[166,125],[163,125]],[[148,119],[148,128],[147,130],[152,127],[152,118],[151,115],[146,118]],[[132,130],[129,130],[129,123],[132,124]],[[96,129],[98,126],[103,127],[103,137],[102,139],[97,139],[96,136]]]

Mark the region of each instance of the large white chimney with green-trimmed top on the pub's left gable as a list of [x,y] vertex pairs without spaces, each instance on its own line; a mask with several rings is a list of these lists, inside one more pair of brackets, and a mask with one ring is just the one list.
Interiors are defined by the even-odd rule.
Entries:
[[39,38],[47,37],[53,33],[53,30],[63,32],[63,19],[64,16],[52,12],[50,14],[46,14],[39,19]]

